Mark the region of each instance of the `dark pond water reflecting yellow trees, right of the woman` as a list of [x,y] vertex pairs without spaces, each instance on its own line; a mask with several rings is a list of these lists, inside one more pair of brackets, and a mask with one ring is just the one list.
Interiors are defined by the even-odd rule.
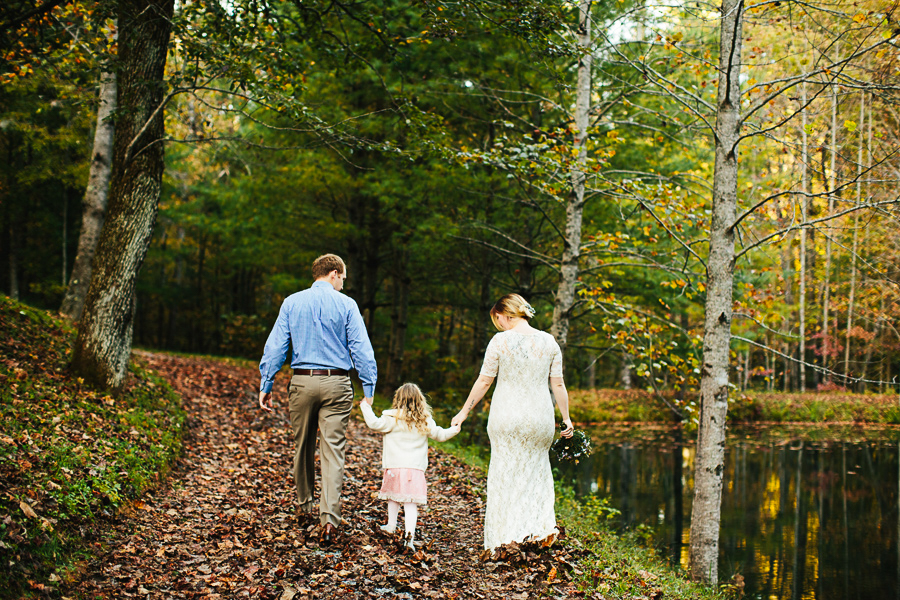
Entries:
[[[593,455],[556,465],[560,476],[687,567],[694,441],[645,426],[587,433]],[[746,598],[900,599],[898,503],[900,430],[731,428],[719,580],[739,573]]]

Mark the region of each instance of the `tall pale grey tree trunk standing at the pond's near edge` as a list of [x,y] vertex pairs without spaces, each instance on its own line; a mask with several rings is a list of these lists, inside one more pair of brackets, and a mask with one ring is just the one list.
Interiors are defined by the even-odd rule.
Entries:
[[740,131],[740,63],[743,0],[723,0],[719,35],[712,222],[706,267],[706,315],[700,378],[700,428],[691,512],[691,576],[718,580],[719,522],[725,470],[725,415],[734,285],[737,212],[737,143]]

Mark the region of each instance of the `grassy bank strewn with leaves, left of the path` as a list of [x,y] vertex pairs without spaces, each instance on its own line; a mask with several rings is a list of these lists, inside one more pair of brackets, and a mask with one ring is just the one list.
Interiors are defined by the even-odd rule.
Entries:
[[155,485],[181,450],[168,384],[130,366],[113,398],[68,371],[74,328],[0,297],[0,597],[46,595],[89,556],[98,521]]

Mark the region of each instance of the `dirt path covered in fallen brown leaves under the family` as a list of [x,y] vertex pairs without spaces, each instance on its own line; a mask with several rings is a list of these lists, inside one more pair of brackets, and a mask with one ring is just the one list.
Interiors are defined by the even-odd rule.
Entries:
[[347,432],[345,523],[337,542],[322,547],[318,519],[294,512],[284,394],[276,399],[281,411],[270,416],[257,407],[253,369],[156,354],[143,359],[184,399],[184,455],[163,488],[117,519],[105,553],[65,595],[301,600],[577,593],[567,583],[572,556],[560,544],[552,551],[513,548],[503,560],[480,558],[483,478],[434,449],[429,504],[419,515],[421,549],[411,554],[382,534],[380,436],[355,420]]

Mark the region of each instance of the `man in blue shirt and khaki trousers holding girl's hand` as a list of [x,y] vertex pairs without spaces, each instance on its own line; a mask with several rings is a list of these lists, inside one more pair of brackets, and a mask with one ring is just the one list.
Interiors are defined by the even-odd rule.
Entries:
[[272,380],[281,369],[288,347],[293,348],[288,396],[294,431],[294,483],[298,512],[314,514],[316,428],[320,433],[319,458],[322,495],[319,520],[322,541],[330,544],[341,523],[341,488],[344,483],[344,430],[353,406],[348,371],[355,368],[367,402],[375,394],[377,367],[372,344],[356,302],[341,294],[347,269],[334,254],[312,265],[315,282],[289,296],[266,341],[259,372],[259,406],[272,412]]

